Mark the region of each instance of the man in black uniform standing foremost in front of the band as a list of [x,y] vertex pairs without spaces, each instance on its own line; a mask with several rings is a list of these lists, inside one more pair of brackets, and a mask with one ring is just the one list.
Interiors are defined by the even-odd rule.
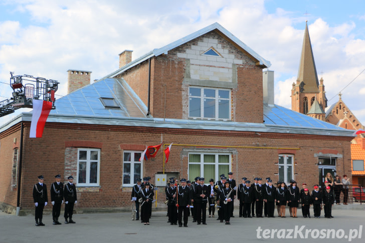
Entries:
[[190,187],[187,186],[187,179],[182,178],[180,180],[181,185],[177,188],[177,199],[178,199],[178,226],[181,227],[182,225],[182,213],[184,213],[184,227],[188,227],[188,214],[189,214],[189,207],[191,204],[191,191]]

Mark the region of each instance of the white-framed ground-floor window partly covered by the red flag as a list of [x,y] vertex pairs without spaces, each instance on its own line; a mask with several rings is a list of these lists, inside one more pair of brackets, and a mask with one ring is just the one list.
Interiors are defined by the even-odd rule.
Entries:
[[142,151],[123,152],[123,186],[133,186],[142,178],[143,163],[139,161]]

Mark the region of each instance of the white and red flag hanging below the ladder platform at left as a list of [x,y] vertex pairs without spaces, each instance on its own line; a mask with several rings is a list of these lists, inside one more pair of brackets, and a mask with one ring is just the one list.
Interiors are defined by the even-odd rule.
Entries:
[[33,100],[33,115],[29,137],[42,137],[47,117],[52,109],[52,102]]

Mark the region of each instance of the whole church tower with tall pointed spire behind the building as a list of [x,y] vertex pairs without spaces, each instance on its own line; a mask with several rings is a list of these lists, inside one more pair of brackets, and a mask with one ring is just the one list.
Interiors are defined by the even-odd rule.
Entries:
[[292,86],[291,109],[324,121],[327,99],[323,79],[321,78],[318,82],[307,22],[305,23],[298,78]]

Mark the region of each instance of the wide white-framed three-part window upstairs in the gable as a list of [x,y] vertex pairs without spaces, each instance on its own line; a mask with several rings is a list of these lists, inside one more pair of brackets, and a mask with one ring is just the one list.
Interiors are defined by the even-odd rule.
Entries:
[[231,119],[231,90],[189,87],[189,117]]

